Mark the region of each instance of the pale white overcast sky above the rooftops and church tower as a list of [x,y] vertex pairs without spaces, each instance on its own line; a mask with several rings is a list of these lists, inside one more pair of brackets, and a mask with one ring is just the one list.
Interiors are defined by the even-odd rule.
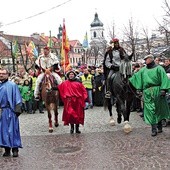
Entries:
[[[86,31],[90,40],[90,24],[95,12],[104,24],[105,36],[113,21],[119,35],[131,17],[138,25],[155,30],[158,26],[155,18],[161,19],[163,4],[164,0],[1,0],[0,22],[3,27],[0,30],[23,36],[34,32],[49,35],[51,30],[52,36],[57,36],[58,27],[65,18],[69,39],[82,42]],[[19,22],[7,25],[15,21]]]

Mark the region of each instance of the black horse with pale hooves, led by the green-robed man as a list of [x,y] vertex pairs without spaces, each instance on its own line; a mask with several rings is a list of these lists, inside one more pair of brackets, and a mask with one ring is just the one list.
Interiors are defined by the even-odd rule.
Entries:
[[129,133],[132,131],[129,125],[130,109],[134,95],[136,95],[135,88],[130,84],[128,79],[132,76],[132,56],[125,56],[120,65],[120,70],[114,74],[111,78],[110,86],[112,97],[111,99],[105,99],[104,106],[108,107],[110,114],[110,124],[115,125],[112,114],[112,105],[115,103],[117,111],[117,123],[122,122],[122,115],[124,118],[125,126],[124,131]]

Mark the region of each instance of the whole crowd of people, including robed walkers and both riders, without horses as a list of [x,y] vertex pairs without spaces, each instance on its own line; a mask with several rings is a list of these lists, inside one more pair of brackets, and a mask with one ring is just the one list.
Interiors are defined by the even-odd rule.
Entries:
[[[0,68],[0,93],[4,94],[0,97],[0,147],[5,148],[3,156],[10,156],[12,149],[13,156],[17,157],[18,148],[22,148],[18,116],[22,112],[33,114],[38,109],[40,113],[44,113],[40,96],[44,74],[51,73],[56,80],[55,90],[59,90],[60,104],[64,105],[64,125],[70,125],[71,134],[74,130],[75,133],[81,133],[79,125],[84,125],[85,110],[103,106],[104,98],[112,95],[109,81],[119,72],[120,64],[126,57],[118,39],[113,39],[112,44],[106,52],[104,65],[72,68],[62,76],[58,74],[59,60],[50,52],[49,47],[45,47],[44,53],[36,60],[35,69],[29,69],[22,77],[8,77],[8,71]],[[144,60],[145,63],[132,64],[133,75],[129,81],[136,88],[137,94],[142,93],[144,101],[134,98],[131,111],[142,111],[145,122],[152,127],[151,135],[156,136],[162,132],[161,121],[170,119],[169,98],[166,98],[170,91],[170,59],[161,61],[153,55],[147,55]],[[13,91],[16,95],[11,98]],[[10,120],[6,119],[9,115]],[[11,122],[12,126],[7,126]],[[9,129],[12,136],[8,134]],[[10,140],[6,138],[7,135],[11,136]]]

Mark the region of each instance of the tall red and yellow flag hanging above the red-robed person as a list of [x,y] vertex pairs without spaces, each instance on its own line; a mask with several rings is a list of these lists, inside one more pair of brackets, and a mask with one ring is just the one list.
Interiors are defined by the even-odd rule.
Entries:
[[69,57],[68,57],[69,51],[70,51],[70,45],[69,45],[68,37],[67,37],[67,34],[66,34],[65,21],[63,20],[62,46],[61,46],[61,66],[63,68],[64,73],[66,73],[71,67]]

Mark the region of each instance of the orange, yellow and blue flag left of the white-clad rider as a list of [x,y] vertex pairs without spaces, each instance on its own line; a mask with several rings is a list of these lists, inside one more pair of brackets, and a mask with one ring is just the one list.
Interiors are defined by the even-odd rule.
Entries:
[[32,59],[32,58],[37,58],[38,57],[38,51],[37,51],[37,49],[36,49],[36,47],[35,47],[35,44],[34,44],[34,42],[33,41],[30,41],[30,43],[28,44],[28,46],[27,45],[25,45],[26,46],[26,53],[27,53],[27,55],[28,55],[28,57],[30,58],[30,59]]

